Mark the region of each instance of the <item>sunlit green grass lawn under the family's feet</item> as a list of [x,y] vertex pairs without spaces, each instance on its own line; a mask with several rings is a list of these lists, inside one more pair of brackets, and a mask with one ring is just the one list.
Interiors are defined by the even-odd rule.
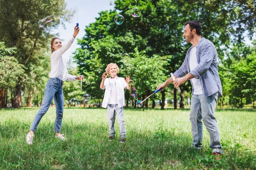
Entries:
[[224,147],[219,161],[211,156],[205,127],[203,149],[190,150],[189,110],[125,109],[122,144],[108,141],[106,109],[65,108],[61,132],[68,140],[55,139],[50,108],[29,146],[26,134],[37,111],[0,110],[0,169],[256,169],[255,111],[216,111]]

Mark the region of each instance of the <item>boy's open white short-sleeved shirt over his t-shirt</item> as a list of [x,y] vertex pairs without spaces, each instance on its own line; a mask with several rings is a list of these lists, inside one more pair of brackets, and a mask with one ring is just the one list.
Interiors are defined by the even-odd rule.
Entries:
[[[104,81],[104,87],[102,88],[105,89],[105,94],[102,102],[102,108],[107,108],[108,106],[108,101],[110,96],[110,91],[111,91],[111,86],[110,86],[110,80],[111,77],[106,78]],[[118,107],[121,108],[125,105],[125,88],[128,86],[128,84],[125,82],[124,78],[120,78],[116,76],[116,93],[117,93],[117,104]]]

